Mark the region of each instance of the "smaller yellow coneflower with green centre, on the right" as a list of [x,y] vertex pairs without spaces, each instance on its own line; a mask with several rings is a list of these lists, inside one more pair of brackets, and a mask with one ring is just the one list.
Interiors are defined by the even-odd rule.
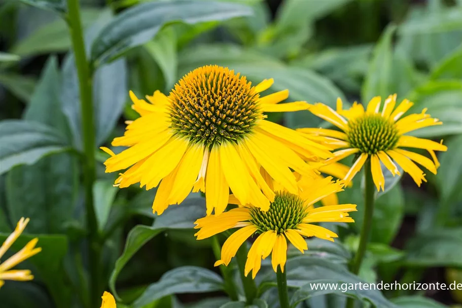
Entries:
[[[395,109],[396,94],[388,96],[381,111],[380,101],[380,96],[372,98],[366,110],[356,102],[349,110],[343,110],[340,98],[337,99],[337,111],[320,103],[310,105],[309,111],[334,124],[343,132],[325,128],[301,128],[299,131],[307,135],[322,136],[326,145],[341,149],[336,151],[334,157],[328,159],[327,163],[339,161],[351,154],[359,155],[344,177],[347,183],[359,172],[366,160],[370,159],[372,177],[378,191],[380,188],[383,190],[385,185],[380,162],[393,176],[400,175],[396,162],[420,186],[422,181],[427,180],[425,174],[413,161],[436,174],[439,162],[434,151],[446,151],[447,147],[442,143],[416,138],[406,133],[443,123],[426,114],[427,109],[419,114],[401,118],[413,103],[404,99]],[[430,153],[433,161],[420,154],[401,149],[403,147],[425,149]]]

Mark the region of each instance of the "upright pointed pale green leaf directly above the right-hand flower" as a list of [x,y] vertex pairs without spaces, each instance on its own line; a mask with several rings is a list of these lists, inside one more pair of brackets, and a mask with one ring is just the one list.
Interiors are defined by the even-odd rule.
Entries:
[[365,104],[374,96],[387,97],[391,94],[389,84],[392,78],[392,39],[395,30],[395,25],[388,25],[374,48],[361,91],[361,99]]

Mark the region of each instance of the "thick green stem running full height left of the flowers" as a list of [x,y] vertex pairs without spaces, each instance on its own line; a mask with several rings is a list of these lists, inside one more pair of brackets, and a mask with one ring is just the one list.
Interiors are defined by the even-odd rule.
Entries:
[[[93,207],[93,183],[95,181],[95,137],[92,99],[92,76],[89,62],[85,54],[82,24],[80,19],[79,0],[67,0],[67,22],[70,38],[74,49],[77,75],[79,77],[79,91],[82,114],[82,134],[85,160],[83,163],[85,186],[85,209],[89,229],[89,267],[90,267],[90,303],[99,306],[102,293],[101,279],[101,242]],[[101,289],[100,289],[101,288]]]

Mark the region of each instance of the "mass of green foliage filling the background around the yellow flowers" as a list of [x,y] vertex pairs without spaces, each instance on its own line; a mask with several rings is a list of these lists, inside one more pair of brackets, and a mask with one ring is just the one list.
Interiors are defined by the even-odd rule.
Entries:
[[[36,279],[7,283],[0,298],[2,307],[90,307],[78,78],[65,18],[56,17],[67,9],[61,0],[23,2],[40,9],[16,1],[0,5],[0,33],[8,48],[0,53],[0,242],[20,217],[30,217],[28,234],[13,248],[39,237],[43,251],[24,264]],[[139,96],[168,93],[181,76],[205,64],[229,66],[255,83],[274,78],[272,90],[289,89],[291,100],[334,107],[337,97],[348,104],[398,93],[415,102],[411,112],[429,108],[444,125],[416,135],[444,138],[449,150],[424,189],[408,185],[406,178],[386,179],[359,277],[346,263],[362,225],[361,177],[339,194],[359,209],[351,229],[336,227],[343,241],[307,240],[305,255],[290,251],[287,275],[294,307],[342,307],[345,296],[377,307],[444,307],[409,290],[341,292],[316,290],[311,283],[425,281],[428,269],[436,267],[446,273],[437,279],[462,282],[461,1],[285,0],[274,18],[261,0],[86,4],[82,23],[95,70],[95,148],[121,134],[120,119],[136,118],[128,89]],[[390,12],[386,23],[377,24],[384,9]],[[41,69],[43,55],[48,59],[39,79],[18,73],[33,73],[37,63]],[[308,112],[271,120],[292,128],[325,125]],[[95,156],[105,159],[99,152]],[[191,195],[155,217],[155,191],[119,190],[113,181],[99,164],[93,192],[105,243],[102,272],[122,302],[133,308],[245,306],[224,297],[223,279],[210,266],[209,244],[193,237],[193,222],[205,212],[202,197]],[[266,261],[252,307],[278,306],[274,272]],[[233,263],[229,270],[241,289]],[[208,295],[177,296],[184,293]],[[461,297],[454,292],[448,303]]]

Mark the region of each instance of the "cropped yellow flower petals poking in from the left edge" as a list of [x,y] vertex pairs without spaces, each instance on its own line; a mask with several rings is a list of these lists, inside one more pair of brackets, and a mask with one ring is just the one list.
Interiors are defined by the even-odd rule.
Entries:
[[[11,233],[6,241],[0,247],[0,259],[5,255],[7,250],[13,245],[16,239],[21,235],[22,231],[26,227],[29,219],[21,218],[16,225],[15,230]],[[5,280],[17,280],[17,281],[28,281],[32,280],[33,276],[28,269],[11,269],[12,267],[16,266],[17,264],[21,263],[25,259],[30,258],[31,256],[38,254],[42,251],[42,248],[35,248],[37,242],[39,241],[38,238],[32,239],[26,246],[14,254],[12,257],[7,259],[5,262],[0,263],[0,288],[5,284]]]

